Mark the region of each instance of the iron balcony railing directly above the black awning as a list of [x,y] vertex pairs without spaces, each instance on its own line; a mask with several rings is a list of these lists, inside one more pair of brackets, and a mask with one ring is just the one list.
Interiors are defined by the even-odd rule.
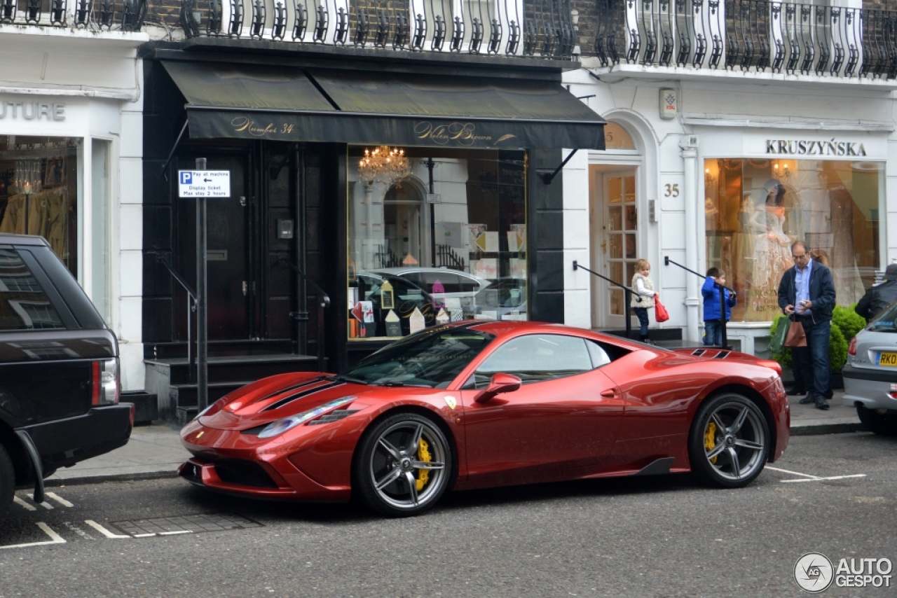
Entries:
[[570,0],[182,0],[197,36],[569,59]]

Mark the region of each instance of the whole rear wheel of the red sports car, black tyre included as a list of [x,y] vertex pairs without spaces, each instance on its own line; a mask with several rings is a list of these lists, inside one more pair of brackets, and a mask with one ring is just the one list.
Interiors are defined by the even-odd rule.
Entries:
[[741,488],[763,471],[771,442],[766,418],[753,401],[734,393],[714,396],[694,417],[688,439],[692,473],[710,486]]

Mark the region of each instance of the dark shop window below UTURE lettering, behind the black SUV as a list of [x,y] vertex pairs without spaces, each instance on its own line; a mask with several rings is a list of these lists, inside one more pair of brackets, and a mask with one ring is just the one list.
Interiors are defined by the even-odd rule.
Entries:
[[75,275],[80,141],[0,135],[0,232],[46,238]]

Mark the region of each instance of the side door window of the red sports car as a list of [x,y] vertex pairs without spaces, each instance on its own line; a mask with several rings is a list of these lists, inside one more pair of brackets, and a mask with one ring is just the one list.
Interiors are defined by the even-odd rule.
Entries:
[[[609,361],[609,360],[608,360]],[[475,372],[476,387],[493,374],[517,376],[523,384],[574,376],[594,369],[587,342],[562,334],[527,334],[505,342]]]

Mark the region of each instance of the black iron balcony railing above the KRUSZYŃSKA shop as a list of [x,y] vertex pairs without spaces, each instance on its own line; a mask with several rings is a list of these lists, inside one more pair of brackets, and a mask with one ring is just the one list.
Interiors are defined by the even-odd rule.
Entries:
[[597,0],[601,65],[897,76],[897,12],[770,0]]

